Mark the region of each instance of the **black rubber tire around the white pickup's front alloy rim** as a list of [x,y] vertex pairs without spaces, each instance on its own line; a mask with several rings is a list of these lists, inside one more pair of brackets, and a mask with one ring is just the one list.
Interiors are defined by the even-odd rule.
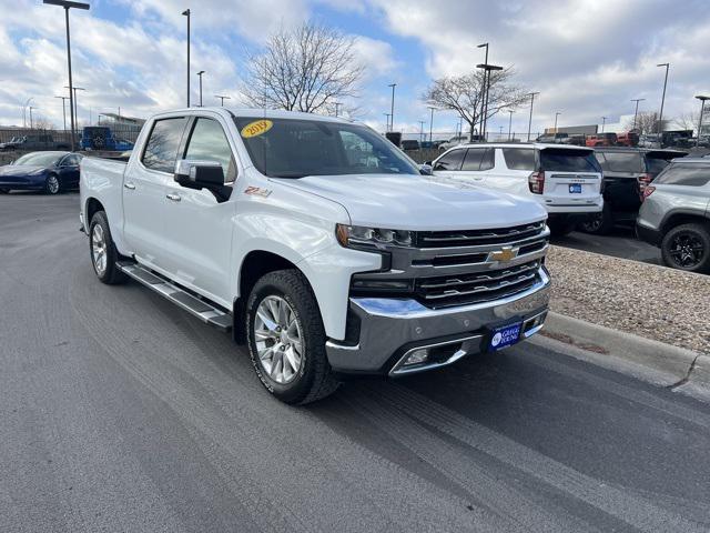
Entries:
[[[256,349],[256,312],[267,296],[285,300],[301,329],[301,365],[287,383],[280,383],[268,374]],[[282,402],[303,405],[321,400],[338,388],[325,352],[326,336],[318,304],[308,281],[297,270],[271,272],[256,282],[246,303],[245,328],[254,371],[266,390]]]

